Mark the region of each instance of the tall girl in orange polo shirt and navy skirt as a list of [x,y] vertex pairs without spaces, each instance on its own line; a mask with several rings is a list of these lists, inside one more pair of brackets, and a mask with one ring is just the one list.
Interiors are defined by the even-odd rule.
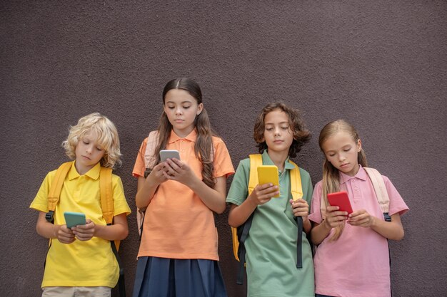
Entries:
[[[230,155],[211,130],[194,80],[169,81],[163,110],[155,166],[146,169],[146,138],[133,170],[136,206],[146,209],[133,296],[226,296],[214,212],[226,209]],[[160,150],[178,150],[180,160],[161,162]]]

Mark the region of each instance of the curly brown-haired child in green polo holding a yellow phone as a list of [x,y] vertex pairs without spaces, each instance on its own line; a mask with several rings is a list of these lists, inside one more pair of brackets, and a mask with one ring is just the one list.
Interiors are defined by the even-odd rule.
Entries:
[[[248,195],[250,160],[242,160],[233,177],[226,202],[231,203],[228,223],[241,226],[255,212],[245,241],[247,296],[296,297],[314,296],[311,246],[306,234],[311,230],[308,220],[312,197],[311,178],[300,170],[303,199],[293,202],[289,157],[296,157],[311,133],[306,130],[298,110],[283,103],[263,108],[254,127],[254,140],[262,154],[263,165],[278,167],[279,188],[258,184]],[[280,194],[278,198],[274,197]],[[297,223],[302,217],[302,264],[296,268]]]

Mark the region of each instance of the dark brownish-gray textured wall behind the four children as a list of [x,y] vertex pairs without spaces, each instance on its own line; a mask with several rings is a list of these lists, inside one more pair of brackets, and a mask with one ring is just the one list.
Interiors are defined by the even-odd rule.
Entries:
[[[391,242],[393,296],[446,296],[445,1],[1,1],[2,296],[37,296],[46,239],[28,209],[60,143],[88,113],[119,128],[116,170],[135,209],[131,177],[141,140],[157,125],[171,78],[201,84],[233,164],[255,152],[253,120],[273,100],[301,108],[313,140],[296,158],[321,178],[318,132],[346,118],[372,167],[411,212]],[[234,283],[227,212],[218,218],[221,267]],[[122,244],[134,281],[135,217]]]

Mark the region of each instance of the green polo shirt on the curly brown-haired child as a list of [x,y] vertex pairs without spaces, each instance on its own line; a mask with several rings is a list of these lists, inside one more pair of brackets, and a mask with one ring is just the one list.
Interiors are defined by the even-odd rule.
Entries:
[[[262,154],[263,165],[274,165],[267,152]],[[278,171],[280,197],[258,205],[246,239],[247,296],[288,297],[314,296],[313,261],[306,234],[303,239],[303,268],[296,268],[296,220],[293,217],[290,170],[285,162]],[[312,183],[306,170],[300,168],[303,199],[311,205]],[[250,159],[239,162],[226,202],[240,205],[248,196]]]

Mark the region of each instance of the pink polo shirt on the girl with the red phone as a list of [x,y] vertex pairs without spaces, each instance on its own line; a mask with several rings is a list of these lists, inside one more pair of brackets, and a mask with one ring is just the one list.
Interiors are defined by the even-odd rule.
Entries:
[[[382,176],[390,197],[389,214],[404,214],[408,207],[388,177]],[[355,177],[340,172],[340,189],[348,192],[353,211],[366,209],[383,219],[368,174],[361,167]],[[311,221],[321,224],[321,181],[313,191]],[[313,258],[316,293],[329,296],[391,296],[388,241],[376,231],[345,224],[337,241],[333,229],[318,245]]]

